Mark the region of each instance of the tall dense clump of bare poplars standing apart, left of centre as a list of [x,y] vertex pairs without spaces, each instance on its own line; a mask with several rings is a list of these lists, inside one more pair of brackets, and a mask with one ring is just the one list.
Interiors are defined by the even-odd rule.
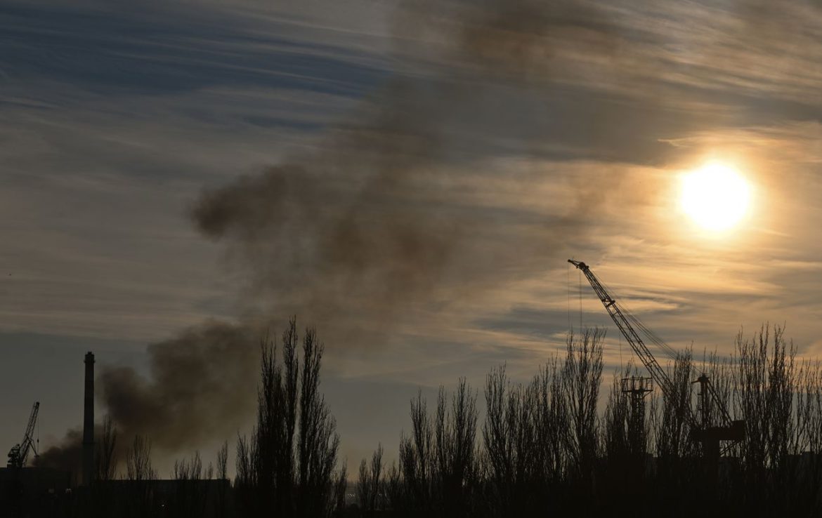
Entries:
[[326,516],[334,507],[339,435],[320,392],[323,346],[308,329],[301,366],[296,326],[291,319],[282,335],[280,361],[275,343],[261,342],[256,427],[238,442],[238,487],[256,502],[244,504],[247,515]]

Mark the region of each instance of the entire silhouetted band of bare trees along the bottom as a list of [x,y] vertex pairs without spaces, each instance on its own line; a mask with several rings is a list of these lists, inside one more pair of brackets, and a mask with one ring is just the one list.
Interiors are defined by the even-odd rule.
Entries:
[[[261,346],[256,426],[238,437],[228,482],[228,443],[215,465],[199,454],[156,481],[150,442],[134,438],[125,472],[115,468],[116,430],[98,440],[98,481],[74,516],[425,518],[507,516],[822,516],[822,368],[797,359],[782,328],[737,337],[734,355],[690,352],[668,369],[673,391],[624,392],[631,366],[603,387],[604,332],[569,335],[527,383],[504,365],[482,393],[465,379],[436,401],[410,401],[397,461],[378,445],[349,481],[339,435],[321,394],[323,347],[292,320]],[[695,379],[707,374],[721,405],[745,419],[746,438],[704,460],[690,415],[718,424],[713,399],[700,408]],[[486,411],[480,415],[478,397]],[[56,516],[56,515],[55,515]]]

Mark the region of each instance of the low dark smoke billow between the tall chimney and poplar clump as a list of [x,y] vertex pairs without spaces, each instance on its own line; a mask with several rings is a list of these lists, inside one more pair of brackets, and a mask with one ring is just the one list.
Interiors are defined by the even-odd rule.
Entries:
[[[150,378],[131,367],[104,367],[97,402],[118,430],[122,461],[136,435],[175,452],[238,432],[256,407],[256,371],[265,332],[208,322],[148,347]],[[102,427],[95,427],[100,438]],[[70,429],[39,456],[39,464],[79,472],[82,430]]]

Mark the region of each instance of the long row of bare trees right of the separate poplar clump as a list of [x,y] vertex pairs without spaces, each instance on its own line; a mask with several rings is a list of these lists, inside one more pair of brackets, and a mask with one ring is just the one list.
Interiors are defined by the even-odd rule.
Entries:
[[[418,395],[399,461],[386,468],[378,447],[360,465],[356,515],[822,516],[822,369],[797,360],[782,328],[740,334],[730,358],[680,355],[673,392],[644,405],[621,387],[635,369],[615,373],[599,412],[603,337],[569,336],[529,383],[493,369],[482,422],[465,380],[432,410]],[[746,421],[718,464],[691,436],[702,373]],[[719,423],[715,401],[704,412],[704,426]]]

